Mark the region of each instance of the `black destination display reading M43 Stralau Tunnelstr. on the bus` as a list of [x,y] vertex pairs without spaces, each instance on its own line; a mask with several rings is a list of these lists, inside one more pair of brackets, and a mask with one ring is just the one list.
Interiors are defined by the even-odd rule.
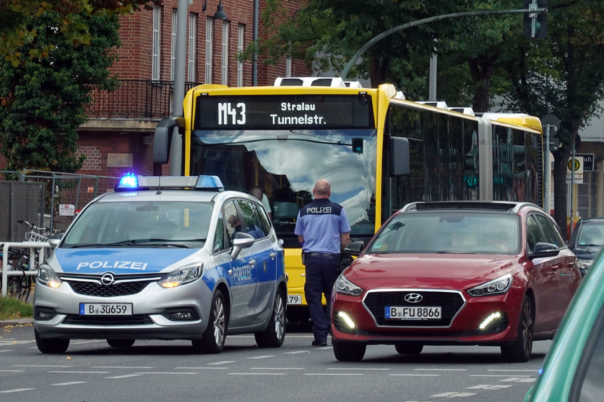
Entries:
[[198,96],[195,130],[373,128],[369,95]]

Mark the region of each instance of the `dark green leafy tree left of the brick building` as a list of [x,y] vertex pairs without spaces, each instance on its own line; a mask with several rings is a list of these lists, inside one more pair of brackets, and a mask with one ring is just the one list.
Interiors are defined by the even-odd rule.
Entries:
[[85,105],[95,89],[113,90],[108,68],[117,58],[118,16],[80,13],[89,45],[74,45],[54,24],[56,11],[30,17],[25,29],[36,37],[16,48],[51,48],[44,58],[25,59],[17,67],[0,59],[0,142],[7,169],[75,172],[83,159],[74,156],[76,129],[87,120]]

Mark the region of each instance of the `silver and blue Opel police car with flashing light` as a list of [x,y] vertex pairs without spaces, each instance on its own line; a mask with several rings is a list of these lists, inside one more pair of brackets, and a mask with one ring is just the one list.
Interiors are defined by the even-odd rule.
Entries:
[[234,333],[283,344],[281,240],[260,201],[216,176],[126,175],[50,242],[34,295],[42,353],[72,338],[188,339],[199,353],[219,353]]

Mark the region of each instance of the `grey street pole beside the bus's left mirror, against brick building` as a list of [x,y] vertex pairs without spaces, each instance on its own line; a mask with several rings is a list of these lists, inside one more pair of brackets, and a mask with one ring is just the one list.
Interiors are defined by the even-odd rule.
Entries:
[[[187,57],[187,11],[188,0],[178,0],[176,13],[176,51],[174,60],[174,93],[172,95],[172,117],[182,116],[185,99],[185,58]],[[182,137],[178,128],[172,134],[170,144],[170,176],[180,176],[182,171]]]

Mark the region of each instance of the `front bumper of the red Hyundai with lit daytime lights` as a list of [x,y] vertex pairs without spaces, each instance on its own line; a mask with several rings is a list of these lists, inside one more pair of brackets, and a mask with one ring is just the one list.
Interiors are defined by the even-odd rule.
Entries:
[[[441,320],[385,318],[385,305],[402,304],[402,297],[410,292],[429,295],[432,300],[429,303],[433,305],[452,305],[448,308],[443,306]],[[443,297],[437,297],[437,293]],[[521,292],[514,289],[504,295],[489,297],[471,297],[467,292],[437,289],[373,289],[358,297],[336,294],[332,303],[333,340],[367,345],[399,342],[422,345],[510,344],[518,337],[521,301]],[[408,305],[413,306],[404,304]],[[484,325],[489,316],[492,319]]]

